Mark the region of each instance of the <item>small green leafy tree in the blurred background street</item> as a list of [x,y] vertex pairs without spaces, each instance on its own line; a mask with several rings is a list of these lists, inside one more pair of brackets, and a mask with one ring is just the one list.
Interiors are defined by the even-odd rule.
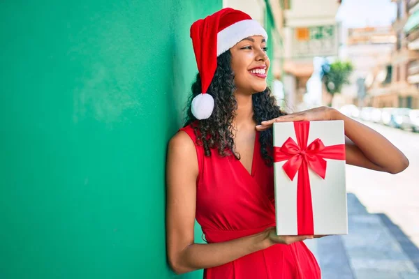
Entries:
[[[335,61],[331,64],[324,63],[322,66],[322,80],[325,88],[333,96],[340,93],[344,84],[350,84],[349,76],[353,71],[352,63],[349,61]],[[330,101],[332,103],[332,101]],[[330,104],[331,105],[331,104]]]

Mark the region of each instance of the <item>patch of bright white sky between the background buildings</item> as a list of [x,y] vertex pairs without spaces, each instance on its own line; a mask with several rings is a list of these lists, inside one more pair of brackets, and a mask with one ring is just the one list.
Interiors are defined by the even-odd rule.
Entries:
[[348,28],[378,27],[392,24],[396,12],[390,0],[343,0],[336,18]]

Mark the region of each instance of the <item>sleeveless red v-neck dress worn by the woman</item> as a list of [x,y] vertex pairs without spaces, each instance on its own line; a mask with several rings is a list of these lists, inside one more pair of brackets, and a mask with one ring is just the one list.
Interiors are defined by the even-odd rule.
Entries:
[[[259,132],[251,174],[233,155],[214,149],[204,156],[191,126],[181,128],[195,142],[199,174],[196,220],[208,243],[229,241],[275,225],[274,172],[260,155]],[[233,262],[204,270],[205,279],[320,279],[316,258],[304,242],[276,244]]]

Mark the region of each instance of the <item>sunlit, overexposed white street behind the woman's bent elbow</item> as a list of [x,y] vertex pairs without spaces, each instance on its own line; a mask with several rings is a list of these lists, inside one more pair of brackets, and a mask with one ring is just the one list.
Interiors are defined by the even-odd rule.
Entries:
[[409,158],[399,174],[374,172],[348,165],[346,187],[369,213],[384,213],[419,247],[419,133],[365,123],[381,133]]

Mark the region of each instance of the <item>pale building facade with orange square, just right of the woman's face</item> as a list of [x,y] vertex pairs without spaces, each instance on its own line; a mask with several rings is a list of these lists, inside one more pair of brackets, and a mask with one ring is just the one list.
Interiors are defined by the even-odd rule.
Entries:
[[[337,56],[337,0],[282,0],[284,7],[284,88],[289,111],[300,110],[314,57]],[[321,97],[320,97],[321,98]]]

